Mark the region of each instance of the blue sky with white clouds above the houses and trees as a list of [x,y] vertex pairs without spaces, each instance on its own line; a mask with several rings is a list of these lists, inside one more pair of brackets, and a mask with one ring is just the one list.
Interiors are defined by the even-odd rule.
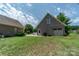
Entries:
[[70,25],[79,25],[78,3],[0,3],[0,14],[14,18],[23,25],[37,26],[48,12],[53,16],[63,12],[70,18]]

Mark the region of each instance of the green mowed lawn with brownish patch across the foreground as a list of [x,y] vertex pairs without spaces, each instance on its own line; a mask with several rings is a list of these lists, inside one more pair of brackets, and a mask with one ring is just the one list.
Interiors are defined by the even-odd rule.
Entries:
[[79,55],[79,35],[23,36],[0,38],[2,56],[62,56]]

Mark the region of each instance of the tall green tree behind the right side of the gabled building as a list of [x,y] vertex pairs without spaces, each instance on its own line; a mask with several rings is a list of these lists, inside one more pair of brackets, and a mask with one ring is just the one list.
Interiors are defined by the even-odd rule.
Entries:
[[69,24],[71,23],[70,19],[67,16],[65,16],[64,13],[59,13],[57,15],[57,19],[59,19],[61,22],[63,22],[66,25],[65,26],[65,33],[66,33],[66,35],[68,35],[69,34],[69,30],[70,30]]

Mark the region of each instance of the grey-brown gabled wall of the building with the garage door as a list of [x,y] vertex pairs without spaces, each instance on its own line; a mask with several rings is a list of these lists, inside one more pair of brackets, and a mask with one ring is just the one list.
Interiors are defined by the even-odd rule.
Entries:
[[[51,19],[51,23],[47,24],[48,17]],[[58,30],[59,31],[58,31]],[[39,33],[40,30],[40,33]],[[57,31],[57,32],[56,32]],[[58,22],[55,18],[51,16],[46,16],[43,21],[38,26],[38,35],[43,35],[44,33],[47,33],[47,35],[64,35],[65,34],[64,25],[62,25],[60,22]]]

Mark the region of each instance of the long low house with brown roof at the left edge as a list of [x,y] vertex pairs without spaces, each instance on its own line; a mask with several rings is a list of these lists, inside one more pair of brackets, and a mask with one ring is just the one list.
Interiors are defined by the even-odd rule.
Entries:
[[23,26],[19,21],[0,15],[0,35],[13,36],[22,31]]

